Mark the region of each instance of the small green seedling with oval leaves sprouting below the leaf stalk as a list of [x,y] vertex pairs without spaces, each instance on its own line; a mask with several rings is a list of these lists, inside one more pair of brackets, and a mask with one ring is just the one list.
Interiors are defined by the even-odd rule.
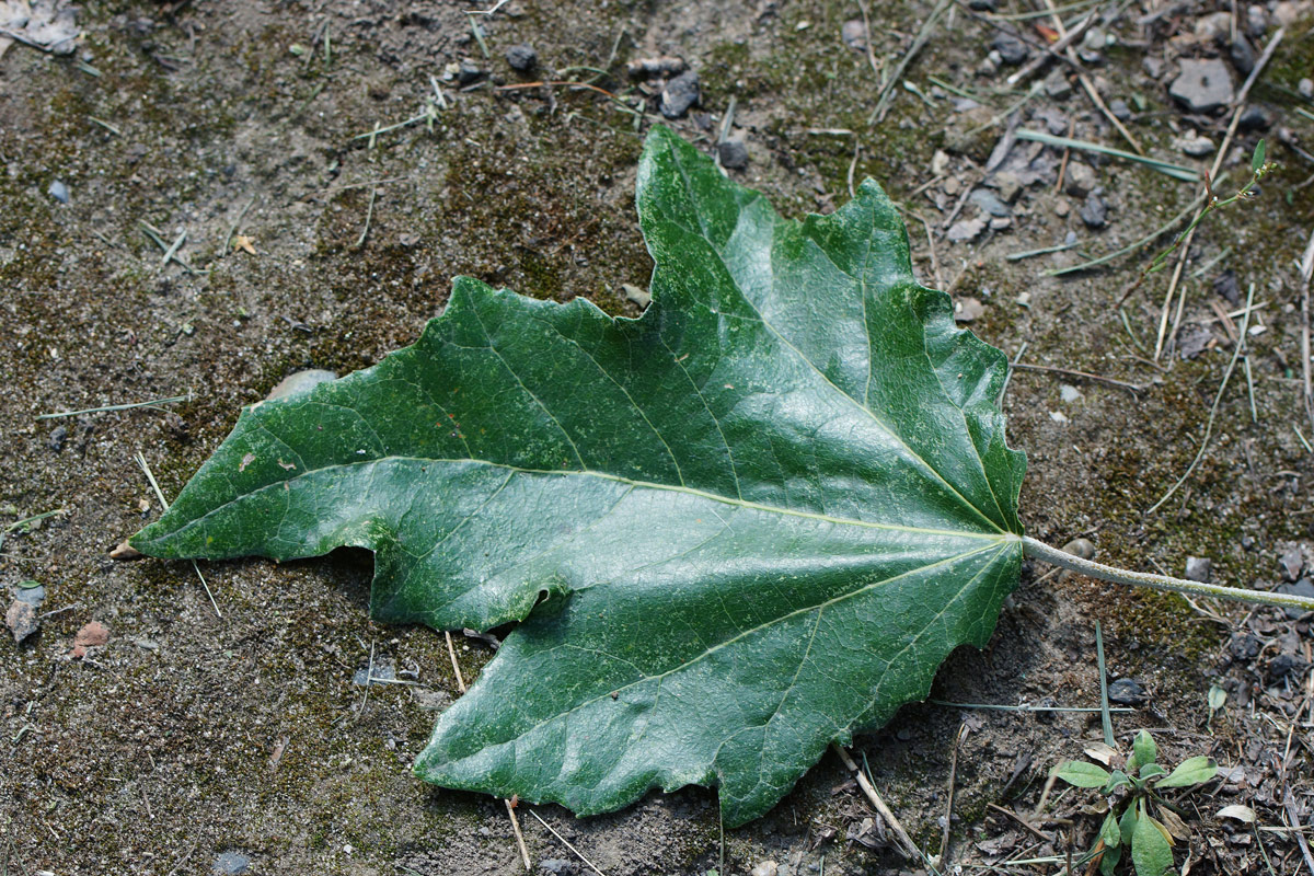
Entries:
[[1218,764],[1204,755],[1183,760],[1172,772],[1156,763],[1158,755],[1154,738],[1141,730],[1121,768],[1117,753],[1109,760],[1112,771],[1084,760],[1054,767],[1054,777],[1077,788],[1099,788],[1109,800],[1100,835],[1085,855],[1085,860],[1099,862],[1104,876],[1112,876],[1123,856],[1131,858],[1137,876],[1163,876],[1172,867],[1172,846],[1189,834],[1162,792],[1204,784],[1218,775]]

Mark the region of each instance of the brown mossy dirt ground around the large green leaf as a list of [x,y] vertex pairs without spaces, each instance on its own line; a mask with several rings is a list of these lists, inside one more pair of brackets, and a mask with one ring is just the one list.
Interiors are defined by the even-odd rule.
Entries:
[[[1138,387],[1014,372],[1004,410],[1029,454],[1030,535],[1085,537],[1099,559],[1179,575],[1188,557],[1208,558],[1213,580],[1260,588],[1314,569],[1298,267],[1314,229],[1307,3],[1122,4],[1104,43],[1081,43],[1092,85],[1127,110],[1146,151],[1205,169],[1212,150],[1193,158],[1175,141],[1196,130],[1217,148],[1231,116],[1190,114],[1168,84],[1183,59],[1230,64],[1234,25],[1255,54],[1286,25],[1250,95],[1263,129],[1236,134],[1219,188],[1246,179],[1261,135],[1277,169],[1257,198],[1200,229],[1158,361],[1171,265],[1121,307],[1148,253],[1046,271],[1152,232],[1200,186],[1024,139],[987,173],[1012,126],[1127,148],[1070,67],[1012,89],[1016,67],[991,70],[1001,30],[1016,29],[1031,56],[1045,41],[1035,25],[1050,18],[1017,17],[1035,8],[1026,0],[993,16],[963,3],[938,18],[929,1],[876,0],[870,26],[851,0],[512,0],[468,14],[487,5],[88,0],[74,54],[16,43],[0,58],[0,527],[63,511],[11,527],[0,548],[4,607],[21,582],[45,586],[39,632],[0,641],[0,873],[523,872],[502,801],[410,775],[456,680],[440,634],[368,620],[368,554],[197,569],[108,554],[160,512],[137,453],[176,495],[242,405],[300,369],[343,374],[411,343],[455,274],[636,315],[624,285],[644,288],[650,261],[635,164],[661,84],[629,77],[635,59],[673,55],[696,71],[700,102],[670,123],[708,151],[733,101],[729,137],[748,164],[729,172],[783,213],[829,211],[854,179],[874,176],[908,210],[920,276],[951,286],[982,338],[1010,357],[1025,344],[1024,364]],[[871,122],[882,77],[928,20],[888,117]],[[536,68],[509,66],[518,43],[536,50]],[[611,97],[509,88],[543,80]],[[1030,81],[1045,85],[1028,96]],[[1085,168],[1105,227],[1089,227],[1089,200],[1070,193]],[[1020,189],[1012,204],[1000,172]],[[971,231],[950,232],[959,222],[991,218],[989,198],[968,197],[982,180],[1008,222],[955,239]],[[147,225],[164,247],[187,232],[177,259]],[[1244,298],[1250,284],[1252,334],[1206,452],[1146,514],[1206,433],[1240,320],[1219,314],[1235,314],[1235,290]],[[37,419],[177,395],[189,401]],[[1008,812],[1031,812],[1050,767],[1100,738],[1099,716],[951,704],[1097,705],[1096,621],[1109,679],[1143,688],[1134,711],[1114,714],[1120,745],[1148,728],[1169,763],[1209,754],[1225,767],[1184,799],[1192,838],[1179,867],[1306,868],[1296,834],[1214,813],[1243,804],[1264,827],[1310,822],[1309,621],[1046,573],[1025,569],[991,646],[955,653],[936,701],[904,708],[854,749],[930,854],[953,785],[941,871],[1058,872],[1009,862],[1089,847],[1092,792],[1051,796],[1025,827]],[[75,655],[92,621],[108,641]],[[456,641],[472,678],[489,645]],[[353,679],[368,667],[415,683],[363,687]],[[1210,717],[1212,686],[1227,701]],[[587,820],[533,808],[561,838],[528,809],[536,872],[591,872],[561,838],[608,876],[925,869],[880,839],[833,756],[769,816],[724,835],[707,789]]]

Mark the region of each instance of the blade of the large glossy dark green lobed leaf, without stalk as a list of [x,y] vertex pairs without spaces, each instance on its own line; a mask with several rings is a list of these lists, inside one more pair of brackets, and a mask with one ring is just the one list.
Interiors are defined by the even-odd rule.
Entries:
[[641,318],[459,278],[414,347],[244,410],[133,545],[368,548],[380,620],[524,621],[422,777],[578,813],[716,784],[737,825],[986,644],[1025,461],[875,183],[786,221],[658,127],[637,200]]

